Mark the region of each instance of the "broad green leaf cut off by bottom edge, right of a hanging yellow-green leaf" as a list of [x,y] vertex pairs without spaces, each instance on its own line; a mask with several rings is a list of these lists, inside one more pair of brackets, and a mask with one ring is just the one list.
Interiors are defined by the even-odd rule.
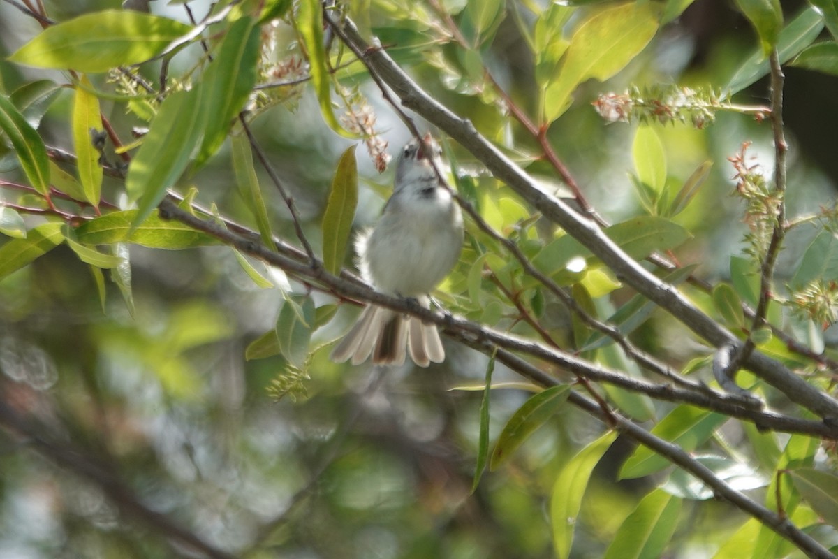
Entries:
[[681,499],[655,489],[646,495],[637,508],[620,525],[614,535],[605,559],[652,559],[663,556],[670,542]]

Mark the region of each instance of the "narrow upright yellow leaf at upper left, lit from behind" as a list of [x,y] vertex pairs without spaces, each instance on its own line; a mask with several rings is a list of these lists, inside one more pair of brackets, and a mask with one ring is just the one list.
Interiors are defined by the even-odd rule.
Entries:
[[82,75],[75,86],[73,103],[73,145],[78,166],[79,179],[84,187],[85,201],[99,207],[102,186],[102,168],[99,151],[93,146],[92,132],[102,128],[99,114],[99,99],[90,90],[93,85]]

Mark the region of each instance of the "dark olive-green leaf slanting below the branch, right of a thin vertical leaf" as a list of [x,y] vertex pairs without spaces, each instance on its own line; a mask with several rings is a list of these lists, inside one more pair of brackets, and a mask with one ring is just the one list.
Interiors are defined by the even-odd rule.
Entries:
[[506,422],[497,443],[494,443],[489,469],[494,471],[505,463],[538,427],[556,415],[569,395],[570,386],[559,385],[530,396]]

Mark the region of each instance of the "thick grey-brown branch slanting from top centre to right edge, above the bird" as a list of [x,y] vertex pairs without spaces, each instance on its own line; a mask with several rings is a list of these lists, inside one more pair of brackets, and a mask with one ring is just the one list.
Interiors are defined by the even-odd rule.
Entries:
[[[379,44],[370,48],[370,44],[360,36],[349,18],[344,19],[342,23],[336,23],[328,16],[327,18],[330,25],[341,29],[345,39],[354,49],[364,53],[365,64],[375,69],[380,79],[399,97],[403,106],[432,122],[463,148],[468,149],[494,173],[495,177],[509,185],[547,219],[561,225],[568,234],[592,251],[621,281],[665,308],[694,333],[716,347],[723,344],[734,344],[737,348],[742,346],[742,342],[731,332],[702,313],[675,287],[662,282],[626,255],[594,222],[583,218],[561,199],[536,184],[520,167],[486,140],[472,122],[460,118],[423,91]],[[838,401],[810,386],[779,361],[754,351],[747,357],[745,365],[768,384],[782,391],[790,400],[814,411],[829,422],[838,423]]]

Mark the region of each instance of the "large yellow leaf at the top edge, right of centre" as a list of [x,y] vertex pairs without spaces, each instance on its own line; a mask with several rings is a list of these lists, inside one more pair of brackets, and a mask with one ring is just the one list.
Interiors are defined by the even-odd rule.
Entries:
[[545,119],[553,122],[570,106],[577,85],[607,80],[649,44],[658,29],[654,3],[625,3],[594,13],[577,28],[556,80],[545,91]]

